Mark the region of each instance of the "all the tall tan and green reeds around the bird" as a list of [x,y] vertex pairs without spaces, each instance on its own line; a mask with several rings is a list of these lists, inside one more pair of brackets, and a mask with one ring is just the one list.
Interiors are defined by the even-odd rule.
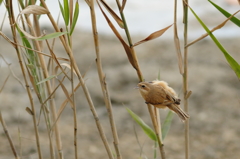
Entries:
[[[89,93],[88,87],[85,84],[84,75],[80,72],[80,68],[77,65],[76,58],[73,53],[73,42],[72,35],[75,31],[76,23],[78,22],[79,16],[79,2],[73,0],[63,0],[62,2],[56,2],[59,10],[61,11],[61,16],[64,19],[64,29],[60,28],[58,22],[54,19],[51,12],[48,9],[47,4],[44,0],[40,0],[40,5],[36,5],[35,0],[30,1],[12,1],[6,0],[4,1],[4,5],[7,10],[8,20],[11,27],[12,39],[6,36],[2,31],[0,31],[0,35],[9,42],[16,52],[16,57],[19,61],[19,66],[21,69],[21,74],[24,79],[24,85],[26,89],[26,93],[28,95],[29,107],[26,107],[26,111],[32,117],[32,124],[34,127],[34,136],[35,136],[35,145],[37,147],[37,155],[39,159],[43,159],[42,155],[42,144],[39,135],[39,120],[41,115],[44,117],[44,124],[46,126],[46,133],[48,135],[48,143],[49,143],[49,158],[64,158],[64,146],[62,145],[61,139],[61,128],[59,126],[59,119],[62,117],[62,112],[64,111],[67,104],[70,105],[72,109],[72,118],[73,118],[73,137],[74,142],[72,143],[74,147],[74,156],[75,158],[79,158],[79,144],[78,144],[78,118],[77,118],[77,103],[76,103],[76,95],[75,92],[81,87],[85,98],[88,102],[90,111],[93,115],[93,118],[96,123],[96,127],[98,129],[98,133],[101,137],[102,143],[106,150],[107,156],[106,158],[113,159],[121,159],[123,150],[120,150],[118,138],[118,131],[115,124],[115,119],[113,115],[113,107],[111,103],[111,97],[109,95],[108,84],[106,81],[106,75],[104,73],[103,64],[101,60],[101,51],[99,45],[99,37],[97,30],[97,21],[96,21],[96,13],[95,7],[100,8],[103,16],[105,17],[110,29],[113,31],[114,35],[118,38],[120,44],[123,46],[126,56],[128,58],[129,63],[132,65],[132,68],[136,71],[136,78],[138,81],[144,81],[144,76],[142,70],[139,65],[137,53],[135,51],[135,46],[140,45],[144,42],[148,42],[155,38],[160,37],[167,31],[170,27],[174,27],[174,42],[176,46],[176,55],[178,59],[179,73],[182,75],[183,81],[183,94],[184,94],[184,109],[186,112],[189,112],[188,99],[191,95],[191,91],[188,88],[188,47],[193,43],[201,40],[202,38],[194,41],[193,43],[188,43],[188,11],[190,6],[188,5],[188,0],[183,0],[184,13],[183,13],[183,23],[184,23],[184,42],[185,46],[184,52],[181,53],[182,48],[180,47],[180,40],[178,38],[178,26],[177,26],[177,0],[174,3],[174,18],[173,24],[169,24],[169,26],[160,29],[156,32],[153,32],[148,37],[143,40],[140,40],[136,43],[132,41],[131,33],[128,29],[128,23],[126,21],[126,17],[124,14],[124,9],[127,1],[123,0],[120,2],[116,0],[116,5],[118,7],[119,13],[115,13],[115,11],[109,7],[109,5],[103,0],[97,0],[96,3],[94,0],[85,0],[90,9],[91,15],[91,23],[92,23],[92,35],[94,39],[94,48],[96,54],[96,66],[99,77],[99,83],[101,85],[101,91],[103,95],[103,99],[106,106],[106,112],[108,113],[109,125],[111,130],[104,129],[102,126],[98,112],[96,111],[95,105],[93,103],[92,97]],[[224,15],[228,17],[228,20],[233,21],[236,25],[239,26],[239,19],[235,18],[234,15],[226,13],[223,9],[216,6],[213,2],[209,0],[209,4],[214,5],[216,8],[220,10]],[[0,1],[0,4],[3,4]],[[13,9],[13,3],[17,3],[20,9],[20,12],[17,17],[15,17],[15,11]],[[239,76],[239,64],[230,56],[230,54],[222,47],[222,45],[218,42],[218,40],[214,37],[212,32],[214,30],[209,30],[207,26],[201,21],[201,19],[195,14],[195,12],[190,8],[191,12],[206,30],[208,35],[213,39],[216,45],[223,52],[227,61],[229,62],[232,69],[235,71],[238,78]],[[105,12],[109,12],[111,17]],[[238,13],[238,12],[237,12]],[[235,14],[237,14],[235,13]],[[41,33],[41,28],[39,25],[41,16],[46,14],[50,25],[54,28],[54,33],[45,34]],[[31,16],[29,16],[31,15]],[[120,16],[118,16],[120,15]],[[32,17],[32,19],[31,19]],[[113,18],[118,26],[115,27],[111,22],[111,18]],[[224,22],[221,27],[226,23]],[[2,25],[1,25],[2,26]],[[2,28],[2,27],[1,27]],[[123,36],[119,33],[118,28],[124,29],[125,36],[127,40],[125,41]],[[220,26],[218,27],[220,28]],[[206,37],[207,35],[205,35]],[[203,37],[204,38],[204,37]],[[54,39],[54,40],[52,40]],[[54,42],[55,39],[59,39],[67,58],[61,58],[58,56],[56,52],[54,52]],[[47,48],[47,51],[43,51],[43,46]],[[47,53],[49,52],[49,54]],[[63,62],[64,61],[64,62]],[[6,78],[4,85],[6,84],[8,77]],[[70,83],[70,87],[65,85],[65,82]],[[33,87],[33,91],[31,90],[30,85]],[[2,88],[3,88],[2,87]],[[1,93],[2,89],[0,90]],[[65,100],[58,107],[56,106],[55,94],[57,91],[64,92]],[[38,98],[39,104],[34,103],[33,93]],[[159,110],[154,108],[152,105],[147,104],[149,115],[151,117],[152,125],[154,131],[150,126],[147,126],[140,117],[138,117],[135,113],[133,113],[130,109],[127,111],[131,114],[131,116],[136,120],[136,122],[142,127],[145,133],[155,142],[155,147],[159,148],[159,152],[162,159],[168,158],[167,154],[165,154],[164,147],[164,139],[166,139],[167,132],[170,129],[171,121],[173,118],[173,114],[170,112],[166,117],[163,124],[160,121]],[[38,112],[37,110],[40,110]],[[4,113],[4,112],[3,112]],[[2,116],[2,111],[0,110],[0,121],[6,137],[11,145],[12,152],[15,158],[22,158],[20,154],[16,151],[14,146],[14,141],[11,138],[11,135],[8,131],[7,125]],[[189,146],[189,120],[185,123],[185,158],[190,158],[190,146]],[[114,149],[111,148],[109,141],[105,135],[105,131],[111,131],[113,138]],[[133,134],[134,135],[134,134]],[[113,152],[114,151],[114,152]],[[154,152],[154,158],[157,158],[156,151]],[[67,158],[67,157],[65,157]]]

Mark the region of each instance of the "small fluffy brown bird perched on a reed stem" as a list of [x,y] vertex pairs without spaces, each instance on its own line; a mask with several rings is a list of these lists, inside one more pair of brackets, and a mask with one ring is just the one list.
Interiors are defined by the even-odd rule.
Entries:
[[157,108],[166,108],[175,112],[182,121],[189,118],[180,105],[180,99],[176,92],[164,81],[141,82],[138,84],[139,91],[146,104],[152,104]]

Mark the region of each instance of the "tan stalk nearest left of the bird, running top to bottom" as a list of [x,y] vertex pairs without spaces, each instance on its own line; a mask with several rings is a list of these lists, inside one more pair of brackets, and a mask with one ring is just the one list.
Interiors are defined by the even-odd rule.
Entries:
[[117,159],[121,159],[122,156],[121,156],[119,146],[118,146],[119,145],[118,134],[117,134],[117,129],[116,129],[116,125],[114,122],[113,113],[112,113],[112,103],[110,101],[110,96],[108,94],[108,88],[107,88],[107,84],[105,82],[105,75],[102,70],[102,62],[101,62],[101,57],[100,57],[100,52],[99,52],[98,32],[97,32],[97,27],[96,27],[94,0],[90,0],[89,4],[90,4],[89,7],[90,7],[90,11],[91,11],[92,31],[93,31],[93,38],[94,38],[94,44],[95,44],[95,52],[96,52],[96,56],[97,56],[96,63],[97,63],[97,68],[98,68],[98,76],[99,76],[102,93],[104,96],[104,101],[105,101],[111,129],[112,129],[112,134],[113,134],[113,139],[114,139],[113,144],[114,144],[114,148],[116,151]]

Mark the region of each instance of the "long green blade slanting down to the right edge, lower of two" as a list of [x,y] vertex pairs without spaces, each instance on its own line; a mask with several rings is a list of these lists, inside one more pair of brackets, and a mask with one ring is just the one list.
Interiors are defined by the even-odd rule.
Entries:
[[213,35],[213,33],[208,29],[208,27],[202,22],[202,20],[197,16],[197,14],[191,8],[190,10],[193,13],[193,15],[196,17],[198,22],[202,25],[202,27],[206,30],[206,32],[212,38],[212,40],[215,42],[217,47],[222,51],[229,65],[231,66],[233,71],[236,73],[238,79],[240,79],[240,66],[237,63],[237,61],[235,61],[234,58],[225,50],[225,48],[221,45],[221,43],[217,40],[217,38]]

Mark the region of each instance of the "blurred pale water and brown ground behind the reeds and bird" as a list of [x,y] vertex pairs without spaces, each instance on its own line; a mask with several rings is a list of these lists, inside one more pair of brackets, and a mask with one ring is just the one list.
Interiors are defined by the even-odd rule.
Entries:
[[[86,72],[86,84],[96,106],[100,122],[113,149],[111,129],[95,65],[96,55],[91,34],[90,11],[84,1],[79,2],[80,14],[77,29],[73,35],[73,52],[81,73]],[[114,1],[108,0],[106,2],[117,12]],[[232,14],[239,10],[237,0],[215,0],[213,2]],[[47,4],[54,18],[57,19],[59,10],[55,6],[58,3],[56,1],[47,1]],[[6,12],[3,5],[0,6],[0,22],[3,21],[3,15]],[[172,24],[173,6],[174,2],[168,0],[127,1],[125,16],[133,41],[140,41],[152,32]],[[226,20],[208,1],[190,1],[190,6],[210,29]],[[15,7],[17,12],[17,5]],[[178,33],[179,38],[182,40],[183,24],[180,1],[178,11]],[[151,119],[144,100],[138,90],[134,89],[139,82],[136,71],[129,64],[122,45],[113,35],[97,6],[96,14],[103,70],[106,74],[106,82],[113,105],[122,156],[130,159],[139,158],[140,154],[142,154],[142,156],[152,158],[154,142],[135,124],[125,109],[125,106],[132,109],[148,125],[151,125]],[[239,18],[239,15],[237,17]],[[41,19],[42,30],[46,30],[47,33],[53,32],[47,16],[43,15]],[[60,20],[59,25],[63,25],[62,20]],[[117,25],[115,24],[115,26]],[[123,30],[118,30],[123,33]],[[10,39],[12,38],[7,16],[2,32],[9,36]],[[189,42],[204,33],[205,31],[200,24],[189,12]],[[122,35],[124,37],[124,34]],[[239,28],[228,22],[222,29],[214,32],[214,35],[239,62]],[[182,43],[181,46],[183,48]],[[160,73],[160,78],[167,81],[182,99],[182,76],[179,73],[177,64],[173,28],[167,30],[160,38],[141,44],[135,49],[145,80],[152,81]],[[59,41],[56,42],[54,52],[58,57],[67,57]],[[0,54],[4,56],[7,62],[11,63],[12,70],[23,82],[14,48],[2,37],[0,37]],[[188,55],[189,90],[193,92],[189,98],[191,158],[239,158],[239,80],[229,67],[221,51],[208,37],[190,46]],[[0,85],[2,85],[10,70],[1,58],[0,71]],[[66,83],[66,86],[70,87],[70,83],[69,85]],[[79,119],[79,156],[80,158],[107,158],[82,90],[79,89],[76,95]],[[56,105],[58,108],[65,99],[63,97],[64,93],[62,91],[57,92]],[[34,101],[38,103],[36,96],[34,96]],[[0,103],[0,109],[9,127],[9,132],[15,141],[17,149],[22,152],[23,158],[37,158],[31,116],[25,111],[25,107],[29,106],[29,99],[25,89],[13,76],[10,76],[0,94]],[[181,106],[183,107],[183,104]],[[161,110],[160,113],[161,120],[164,121],[168,110]],[[43,118],[41,120],[43,122]],[[70,106],[67,106],[64,110],[59,126],[62,129],[61,137],[65,158],[74,158],[73,118]],[[136,130],[140,145],[143,147],[142,152],[134,130]],[[47,134],[43,123],[39,125],[39,131],[42,139],[43,154],[44,157],[48,158],[48,142],[44,140],[44,138],[47,138]],[[2,127],[0,127],[0,141],[3,143],[0,145],[0,159],[13,158]],[[184,124],[176,115],[164,144],[167,158],[184,158]]]

